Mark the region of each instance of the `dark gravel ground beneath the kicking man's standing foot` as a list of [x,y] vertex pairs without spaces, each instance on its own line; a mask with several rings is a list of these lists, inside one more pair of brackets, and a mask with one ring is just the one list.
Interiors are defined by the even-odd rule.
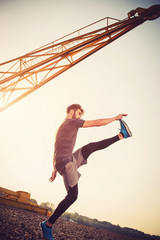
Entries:
[[[45,216],[27,210],[0,205],[0,240],[44,240],[40,222]],[[54,224],[55,240],[140,240],[62,219]]]

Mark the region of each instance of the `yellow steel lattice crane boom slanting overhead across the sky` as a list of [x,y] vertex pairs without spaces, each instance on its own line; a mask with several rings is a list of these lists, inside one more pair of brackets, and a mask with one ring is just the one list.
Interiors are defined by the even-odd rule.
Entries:
[[[0,71],[0,111],[146,20],[155,19],[155,14],[157,18],[159,6],[138,12],[138,16],[136,12],[133,14],[132,10],[131,16],[124,20],[103,18],[21,57],[1,63],[3,71]],[[99,27],[100,25],[103,26]]]

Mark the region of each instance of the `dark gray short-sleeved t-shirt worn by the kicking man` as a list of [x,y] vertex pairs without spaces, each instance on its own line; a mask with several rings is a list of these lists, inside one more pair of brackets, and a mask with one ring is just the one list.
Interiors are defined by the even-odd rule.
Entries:
[[54,149],[56,169],[61,173],[64,166],[72,161],[72,152],[75,146],[77,132],[83,126],[84,120],[65,119],[57,131]]

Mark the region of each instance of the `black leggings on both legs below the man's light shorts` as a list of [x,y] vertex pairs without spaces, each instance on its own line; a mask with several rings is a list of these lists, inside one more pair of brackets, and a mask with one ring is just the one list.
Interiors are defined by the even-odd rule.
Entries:
[[[112,138],[108,138],[99,142],[93,142],[89,143],[82,147],[82,156],[84,159],[87,159],[90,154],[92,154],[95,151],[107,148],[111,144],[117,142],[119,140],[118,135]],[[65,199],[63,199],[54,213],[51,215],[51,217],[48,219],[49,223],[54,224],[55,221],[76,201],[78,197],[78,184],[76,184],[74,187],[69,187],[69,190],[67,191],[67,196]]]

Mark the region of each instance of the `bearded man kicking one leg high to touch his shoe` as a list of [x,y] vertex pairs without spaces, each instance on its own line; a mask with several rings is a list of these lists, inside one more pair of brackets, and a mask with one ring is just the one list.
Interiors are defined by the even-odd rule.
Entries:
[[[85,121],[81,119],[84,110],[79,104],[72,104],[67,108],[67,116],[58,129],[53,157],[53,173],[50,181],[56,178],[57,171],[63,176],[67,190],[67,196],[63,199],[48,221],[41,223],[45,239],[53,240],[52,227],[55,221],[73,204],[78,196],[78,180],[80,173],[78,168],[87,163],[90,154],[100,149],[104,149],[111,144],[132,136],[127,124],[121,120],[127,114],[119,114],[113,118],[97,119]],[[120,121],[121,131],[118,135],[99,142],[89,143],[72,153],[75,146],[77,132],[79,128],[100,127],[107,125],[115,120]]]

